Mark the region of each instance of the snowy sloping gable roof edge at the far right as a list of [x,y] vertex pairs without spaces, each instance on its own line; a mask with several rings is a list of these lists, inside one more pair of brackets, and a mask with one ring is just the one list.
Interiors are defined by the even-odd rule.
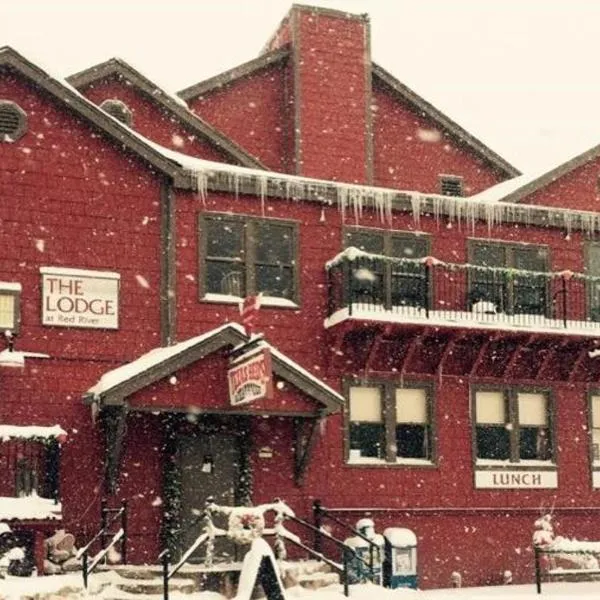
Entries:
[[[495,185],[483,192],[480,192],[474,199],[485,199],[497,202],[521,202],[527,196],[530,196],[534,192],[546,187],[550,183],[553,183],[557,179],[568,175],[575,169],[582,167],[586,163],[600,158],[600,144],[570,158],[569,160],[561,163],[557,167],[545,171],[543,173],[536,173],[527,176],[521,176],[513,180],[511,186],[503,187],[503,184]],[[504,182],[506,183],[506,182]]]

